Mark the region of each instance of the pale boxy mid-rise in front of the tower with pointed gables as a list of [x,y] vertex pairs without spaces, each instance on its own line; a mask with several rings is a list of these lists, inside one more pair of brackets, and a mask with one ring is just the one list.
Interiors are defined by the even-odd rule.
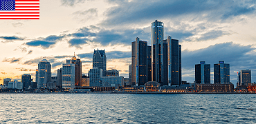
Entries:
[[102,82],[100,78],[102,77],[102,69],[101,68],[92,68],[89,72],[90,77],[90,87],[101,87]]

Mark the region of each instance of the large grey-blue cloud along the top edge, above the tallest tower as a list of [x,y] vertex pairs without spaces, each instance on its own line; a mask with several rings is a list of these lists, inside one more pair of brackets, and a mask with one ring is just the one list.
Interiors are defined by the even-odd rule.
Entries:
[[[255,12],[254,1],[109,1],[118,6],[107,10],[107,20],[103,25],[130,25],[150,23],[155,19],[176,20],[179,17],[208,21],[226,20],[241,14]],[[147,21],[147,22],[145,22]],[[115,22],[115,23],[113,23]]]

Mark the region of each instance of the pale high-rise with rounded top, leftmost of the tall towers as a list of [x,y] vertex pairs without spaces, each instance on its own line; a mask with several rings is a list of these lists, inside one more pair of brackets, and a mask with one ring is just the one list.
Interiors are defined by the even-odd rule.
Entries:
[[46,59],[43,59],[38,64],[37,87],[47,88],[47,83],[51,81],[51,64]]

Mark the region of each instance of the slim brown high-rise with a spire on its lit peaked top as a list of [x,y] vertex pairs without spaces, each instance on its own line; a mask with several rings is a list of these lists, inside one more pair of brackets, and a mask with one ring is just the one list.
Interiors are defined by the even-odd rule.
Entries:
[[82,62],[75,57],[75,53],[72,59],[67,59],[66,63],[75,64],[75,86],[82,86]]

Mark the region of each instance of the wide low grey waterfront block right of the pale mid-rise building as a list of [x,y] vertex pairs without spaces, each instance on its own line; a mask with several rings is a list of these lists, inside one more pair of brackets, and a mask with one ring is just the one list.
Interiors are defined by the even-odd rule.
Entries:
[[102,76],[102,87],[117,87],[124,85],[124,77],[123,76]]

